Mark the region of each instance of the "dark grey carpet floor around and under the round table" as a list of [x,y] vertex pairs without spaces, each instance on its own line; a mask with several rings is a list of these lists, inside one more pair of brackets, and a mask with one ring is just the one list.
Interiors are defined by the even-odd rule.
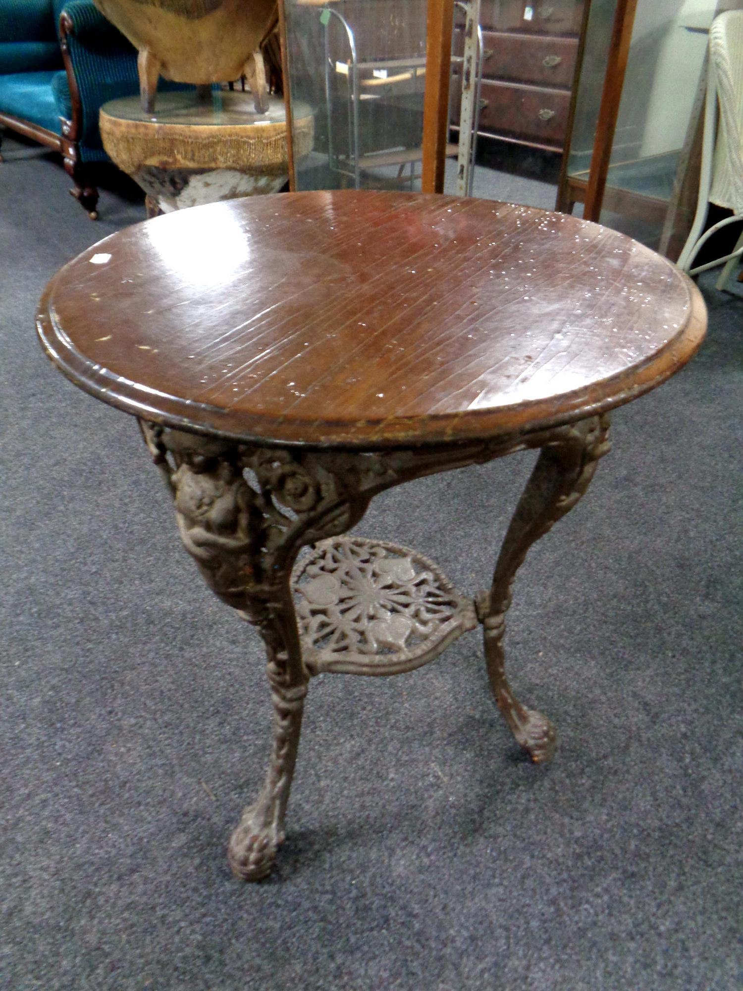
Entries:
[[[134,421],[34,334],[58,266],[143,207],[104,190],[91,223],[53,157],[4,153],[0,987],[740,988],[743,302],[704,283],[702,351],[615,413],[521,570],[510,670],[554,762],[518,753],[477,633],[410,675],[320,678],[277,869],[244,885],[258,639],[180,548]],[[476,591],[531,460],[383,495],[359,529]]]

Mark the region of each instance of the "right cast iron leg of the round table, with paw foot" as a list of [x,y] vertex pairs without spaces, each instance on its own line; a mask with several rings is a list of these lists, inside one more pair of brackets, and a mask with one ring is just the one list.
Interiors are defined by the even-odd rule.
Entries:
[[535,763],[549,760],[555,729],[546,716],[526,709],[505,677],[503,637],[511,587],[531,545],[578,502],[598,459],[609,450],[608,417],[591,417],[548,437],[503,541],[489,593],[478,599],[485,658],[495,702],[513,735]]

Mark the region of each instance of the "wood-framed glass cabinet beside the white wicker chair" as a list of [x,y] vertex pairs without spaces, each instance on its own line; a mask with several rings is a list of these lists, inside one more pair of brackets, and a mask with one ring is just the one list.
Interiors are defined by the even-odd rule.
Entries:
[[[596,168],[594,153],[603,154],[605,187],[585,215],[667,250],[670,222],[673,226],[685,187],[694,185],[690,172],[698,169],[707,32],[715,14],[733,6],[738,4],[591,0],[559,209],[571,212],[576,202],[585,201],[592,161]],[[615,118],[613,134],[608,129],[602,138],[604,80],[612,28],[622,8],[634,19],[628,26],[624,82],[615,94],[618,102],[608,107]]]

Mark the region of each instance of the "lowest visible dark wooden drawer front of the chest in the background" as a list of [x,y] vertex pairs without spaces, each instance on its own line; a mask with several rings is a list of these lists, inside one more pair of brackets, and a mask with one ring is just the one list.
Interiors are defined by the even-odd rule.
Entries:
[[562,148],[571,94],[559,89],[482,80],[479,130]]

